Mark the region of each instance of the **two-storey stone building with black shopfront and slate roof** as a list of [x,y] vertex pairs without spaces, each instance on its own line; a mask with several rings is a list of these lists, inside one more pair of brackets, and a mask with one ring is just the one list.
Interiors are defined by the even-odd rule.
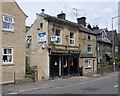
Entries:
[[42,9],[27,32],[26,63],[37,66],[38,80],[97,70],[96,35],[85,27],[85,17],[78,23],[65,17],[63,12],[55,17]]

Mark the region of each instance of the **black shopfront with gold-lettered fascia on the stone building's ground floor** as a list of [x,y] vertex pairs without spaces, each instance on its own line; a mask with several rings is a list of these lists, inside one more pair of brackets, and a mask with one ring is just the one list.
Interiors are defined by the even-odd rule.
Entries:
[[77,75],[80,51],[51,49],[50,77]]

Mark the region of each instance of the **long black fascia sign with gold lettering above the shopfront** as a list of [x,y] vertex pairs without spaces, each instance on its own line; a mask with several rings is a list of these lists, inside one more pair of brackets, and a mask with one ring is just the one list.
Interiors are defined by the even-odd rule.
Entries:
[[51,53],[61,53],[61,54],[80,54],[80,51],[53,49],[53,50],[51,50]]

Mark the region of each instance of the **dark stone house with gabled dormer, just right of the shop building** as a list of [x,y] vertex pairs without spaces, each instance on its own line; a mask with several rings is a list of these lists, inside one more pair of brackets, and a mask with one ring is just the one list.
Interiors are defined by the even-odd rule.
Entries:
[[105,28],[99,29],[98,26],[93,27],[93,31],[97,34],[97,62],[103,63],[112,59],[112,42],[108,39]]

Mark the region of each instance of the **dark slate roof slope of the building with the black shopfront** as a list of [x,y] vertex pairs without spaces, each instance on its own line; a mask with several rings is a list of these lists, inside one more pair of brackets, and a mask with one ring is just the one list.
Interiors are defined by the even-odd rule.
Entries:
[[77,24],[75,22],[71,22],[69,20],[60,19],[58,17],[50,16],[48,14],[38,14],[37,13],[37,15],[44,17],[48,21],[52,21],[52,22],[56,22],[56,23],[64,24],[64,25],[69,25],[71,27],[78,28],[78,30],[81,31],[81,32],[86,32],[86,33],[89,33],[89,34],[96,35],[92,30],[88,29],[87,27],[83,26],[82,24]]

